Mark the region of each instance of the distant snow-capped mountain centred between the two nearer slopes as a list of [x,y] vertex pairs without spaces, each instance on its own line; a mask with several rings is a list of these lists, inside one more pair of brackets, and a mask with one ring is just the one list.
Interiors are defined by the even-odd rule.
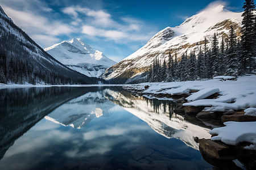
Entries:
[[81,39],[63,41],[44,50],[70,69],[87,76],[98,77],[116,63]]

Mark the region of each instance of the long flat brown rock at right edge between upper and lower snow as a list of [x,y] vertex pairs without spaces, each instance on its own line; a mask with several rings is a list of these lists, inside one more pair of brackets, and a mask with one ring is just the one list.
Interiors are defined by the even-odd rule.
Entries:
[[256,116],[249,116],[245,114],[224,115],[221,117],[221,120],[222,122],[254,122],[256,121]]

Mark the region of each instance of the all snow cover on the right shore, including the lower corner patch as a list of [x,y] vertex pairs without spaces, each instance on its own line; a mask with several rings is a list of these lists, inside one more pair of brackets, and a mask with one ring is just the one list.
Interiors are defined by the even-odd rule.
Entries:
[[[189,81],[189,82],[169,82],[169,83],[140,83],[126,85],[124,88],[133,92],[135,95],[141,95],[148,99],[159,100],[174,100],[173,96],[179,96],[183,100],[184,108],[204,108],[198,112],[204,113],[240,113],[238,116],[247,116],[250,118],[256,116],[256,75],[240,76],[238,78],[228,76],[217,76],[210,80]],[[213,94],[218,94],[210,99],[205,99]],[[184,109],[186,110],[186,109]],[[248,112],[248,113],[244,113]],[[187,113],[185,111],[185,113]],[[197,113],[193,113],[195,115]],[[222,114],[225,115],[225,114]],[[229,116],[229,115],[228,115]],[[237,115],[236,115],[237,116]],[[233,122],[232,125],[236,126],[239,122]],[[227,125],[231,125],[226,123]],[[249,125],[247,122],[242,126]],[[248,135],[255,135],[256,131],[246,133],[246,129],[252,128],[256,122],[252,121],[251,126],[247,128],[234,129],[238,133],[232,136],[232,139],[225,138],[221,135],[228,131],[229,127],[222,127],[221,129],[215,128],[211,134],[218,135],[213,137],[212,140],[220,140],[230,145],[237,145],[239,142],[250,142],[256,145],[256,141],[247,138]],[[241,124],[240,124],[241,127]],[[233,130],[233,132],[234,132]],[[246,135],[247,134],[247,135]],[[231,140],[231,141],[230,141]]]

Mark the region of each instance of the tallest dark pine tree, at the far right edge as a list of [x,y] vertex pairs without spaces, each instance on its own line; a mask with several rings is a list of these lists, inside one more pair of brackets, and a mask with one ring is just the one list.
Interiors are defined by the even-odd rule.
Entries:
[[251,57],[254,53],[254,15],[255,5],[253,0],[245,0],[243,3],[243,20],[242,20],[242,36],[241,36],[241,47],[242,53],[240,62],[243,64],[243,70],[246,70],[246,59],[249,59],[249,73],[251,72]]

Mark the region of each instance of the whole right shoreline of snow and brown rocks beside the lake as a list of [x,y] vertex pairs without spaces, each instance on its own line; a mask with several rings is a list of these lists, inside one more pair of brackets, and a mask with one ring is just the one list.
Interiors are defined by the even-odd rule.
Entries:
[[[243,81],[242,79],[247,80]],[[194,82],[140,83],[126,85],[123,88],[135,96],[143,96],[147,99],[173,100],[177,103],[175,113],[194,116],[205,125],[205,121],[221,121],[222,127],[214,128],[214,125],[212,126],[211,139],[199,139],[197,137],[194,139],[199,143],[203,158],[217,167],[237,168],[234,160],[239,160],[246,169],[254,169],[256,167],[256,141],[249,142],[248,139],[242,139],[230,145],[226,142],[228,139],[225,139],[225,136],[220,137],[221,132],[225,132],[231,122],[234,122],[236,126],[238,123],[248,125],[247,122],[250,122],[253,127],[256,125],[256,116],[245,113],[247,108],[256,108],[254,83],[256,83],[256,76],[252,75],[238,77],[233,80],[212,79]],[[207,87],[209,84],[212,87]],[[219,86],[216,86],[216,84]],[[242,84],[244,86],[241,86]],[[238,92],[238,95],[236,92]],[[236,130],[232,130],[231,133],[236,134]],[[248,130],[245,129],[242,133],[246,134],[246,131]],[[250,135],[253,138],[256,131],[253,131],[253,134]]]

